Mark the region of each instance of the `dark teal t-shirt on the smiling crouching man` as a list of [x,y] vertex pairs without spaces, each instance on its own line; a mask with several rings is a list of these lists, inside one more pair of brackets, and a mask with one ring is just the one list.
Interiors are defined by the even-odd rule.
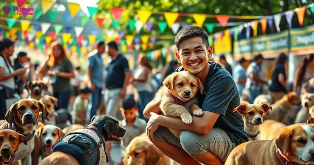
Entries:
[[[198,93],[199,106],[203,111],[220,114],[214,127],[224,130],[237,146],[248,141],[242,116],[233,109],[240,105],[239,92],[230,73],[216,62],[208,62],[210,70],[204,83],[204,93]],[[177,72],[184,71],[179,67]]]

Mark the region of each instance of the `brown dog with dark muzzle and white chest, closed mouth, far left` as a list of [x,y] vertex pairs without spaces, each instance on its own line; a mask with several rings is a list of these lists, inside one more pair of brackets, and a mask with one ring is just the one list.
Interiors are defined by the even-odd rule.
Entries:
[[0,130],[11,129],[26,137],[27,145],[21,144],[15,153],[15,160],[22,160],[22,165],[31,164],[31,152],[34,149],[34,133],[38,124],[39,113],[45,121],[49,115],[45,105],[33,99],[21,99],[13,104],[5,115],[5,120],[0,120]]

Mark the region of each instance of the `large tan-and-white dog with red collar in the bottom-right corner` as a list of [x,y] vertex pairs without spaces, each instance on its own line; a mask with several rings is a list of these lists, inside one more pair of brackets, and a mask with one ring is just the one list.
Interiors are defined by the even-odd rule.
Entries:
[[236,146],[225,165],[313,164],[314,125],[294,124],[269,141],[249,141]]

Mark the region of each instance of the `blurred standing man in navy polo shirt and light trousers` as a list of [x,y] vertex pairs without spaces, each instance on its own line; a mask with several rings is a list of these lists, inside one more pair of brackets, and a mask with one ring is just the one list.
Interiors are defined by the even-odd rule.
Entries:
[[116,42],[109,42],[106,51],[108,52],[108,56],[111,56],[112,60],[106,67],[106,115],[122,120],[123,118],[119,112],[119,108],[122,99],[126,95],[127,85],[129,84],[129,64],[127,59],[118,51]]

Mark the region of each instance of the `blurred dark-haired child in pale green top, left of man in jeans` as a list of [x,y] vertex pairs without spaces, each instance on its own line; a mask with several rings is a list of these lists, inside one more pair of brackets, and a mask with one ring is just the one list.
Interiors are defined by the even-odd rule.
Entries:
[[89,88],[80,89],[80,94],[75,98],[73,103],[73,118],[74,124],[86,125],[88,120],[86,118],[86,109],[89,101],[89,94],[91,90]]

